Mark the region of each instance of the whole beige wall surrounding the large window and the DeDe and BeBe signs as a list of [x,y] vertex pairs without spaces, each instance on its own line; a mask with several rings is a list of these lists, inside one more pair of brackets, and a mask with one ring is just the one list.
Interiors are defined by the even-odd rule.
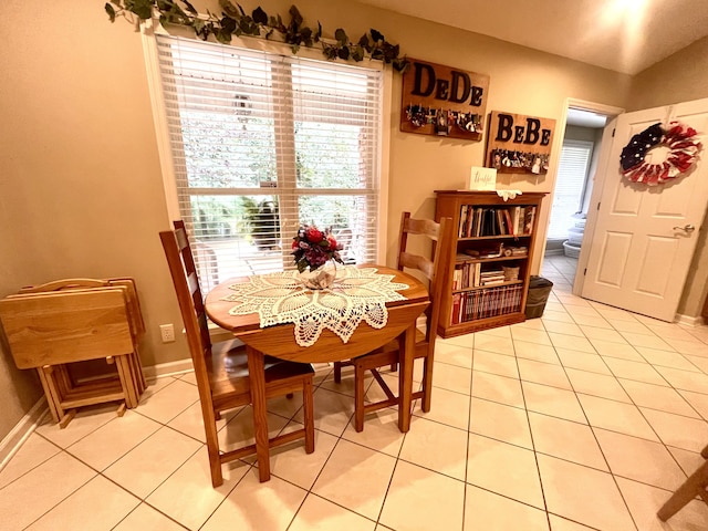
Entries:
[[[285,14],[290,1],[261,4]],[[209,3],[219,12],[216,0]],[[491,76],[487,111],[559,119],[565,98],[627,107],[632,79],[554,55],[353,2],[299,1],[306,22],[357,39],[382,31],[413,58]],[[157,232],[168,227],[139,34],[111,24],[102,2],[65,0],[41,9],[6,0],[0,20],[0,296],[65,277],[135,277],[148,334],[145,365],[187,357],[183,341],[159,342],[160,323],[180,323]],[[436,189],[465,186],[485,145],[398,132],[394,76],[388,173],[388,262],[402,210],[433,216]],[[560,132],[556,129],[556,144]],[[548,177],[502,185],[551,191]],[[548,219],[546,202],[541,216]],[[538,262],[538,260],[537,260]],[[537,263],[538,268],[538,263]],[[3,350],[0,439],[41,395]],[[9,407],[4,407],[9,404]]]

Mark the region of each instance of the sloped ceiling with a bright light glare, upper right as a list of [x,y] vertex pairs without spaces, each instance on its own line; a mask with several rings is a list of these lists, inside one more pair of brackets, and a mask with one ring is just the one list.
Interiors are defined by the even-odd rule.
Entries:
[[356,0],[636,74],[708,34],[708,0]]

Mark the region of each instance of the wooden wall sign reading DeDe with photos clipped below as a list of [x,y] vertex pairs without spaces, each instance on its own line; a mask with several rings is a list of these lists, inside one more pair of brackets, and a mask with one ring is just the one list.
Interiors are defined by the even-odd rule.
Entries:
[[400,131],[480,140],[489,75],[408,58]]

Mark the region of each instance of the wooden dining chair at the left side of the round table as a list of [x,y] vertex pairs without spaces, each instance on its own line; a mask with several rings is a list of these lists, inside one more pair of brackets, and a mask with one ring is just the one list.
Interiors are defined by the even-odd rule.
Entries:
[[[223,483],[221,471],[223,464],[256,454],[256,445],[221,451],[217,437],[216,421],[221,412],[251,403],[246,347],[237,346],[236,340],[211,344],[199,279],[184,221],[175,221],[175,230],[160,232],[159,237],[175,284],[195,367],[211,483],[214,487],[219,487]],[[310,364],[284,362],[266,356],[266,398],[302,392],[305,424],[302,429],[271,438],[269,447],[282,446],[304,438],[305,451],[308,454],[314,451],[313,374],[314,369]]]

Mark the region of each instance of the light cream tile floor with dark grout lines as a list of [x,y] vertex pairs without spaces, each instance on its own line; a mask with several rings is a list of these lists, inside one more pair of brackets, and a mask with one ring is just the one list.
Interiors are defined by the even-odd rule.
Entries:
[[[238,461],[212,489],[194,375],[163,377],[123,418],[98,407],[40,426],[0,472],[0,528],[708,529],[699,501],[655,517],[708,444],[708,327],[573,296],[573,268],[545,261],[542,319],[438,340],[433,410],[416,408],[405,436],[393,409],[357,434],[351,379],[324,372],[315,452],[274,451],[267,483]],[[271,402],[271,430],[299,423],[300,406]],[[219,427],[226,447],[248,439],[249,408]]]

